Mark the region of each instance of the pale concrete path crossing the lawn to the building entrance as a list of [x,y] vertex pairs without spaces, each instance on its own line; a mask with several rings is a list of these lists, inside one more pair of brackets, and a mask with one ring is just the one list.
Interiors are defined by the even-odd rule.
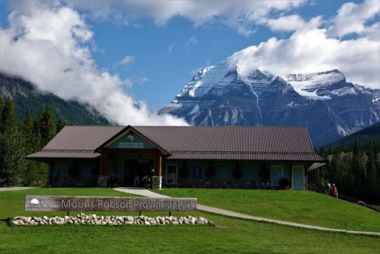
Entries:
[[[114,190],[119,190],[123,193],[132,193],[132,194],[137,194],[137,195],[146,196],[146,197],[168,197],[165,195],[153,193],[152,191],[146,190],[145,188],[123,188],[123,187],[121,187],[121,188],[114,188]],[[343,233],[359,234],[359,235],[379,235],[380,236],[379,232],[350,231],[350,230],[346,230],[346,229],[325,228],[323,226],[311,226],[311,225],[299,224],[299,223],[294,223],[294,222],[285,222],[285,221],[281,221],[281,220],[277,220],[277,219],[267,219],[267,218],[263,218],[263,217],[246,215],[243,213],[235,213],[235,212],[223,210],[220,208],[203,206],[201,204],[197,204],[197,210],[205,211],[208,213],[216,213],[218,215],[225,215],[228,217],[236,217],[236,218],[241,218],[241,219],[252,219],[252,220],[255,220],[257,222],[270,222],[270,223],[274,223],[274,224],[296,226],[298,228],[316,229],[319,231],[332,231],[332,232],[343,232]]]

